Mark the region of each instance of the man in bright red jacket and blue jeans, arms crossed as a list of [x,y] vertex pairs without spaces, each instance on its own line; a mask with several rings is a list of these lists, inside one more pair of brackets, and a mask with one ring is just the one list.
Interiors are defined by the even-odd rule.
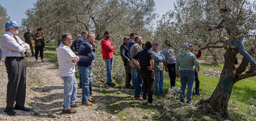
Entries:
[[112,65],[113,65],[113,59],[115,51],[115,47],[113,46],[112,42],[108,40],[110,38],[110,33],[106,31],[104,33],[104,39],[101,41],[101,50],[102,50],[102,56],[103,60],[105,60],[106,64],[106,73],[107,73],[107,85],[114,87],[115,83],[112,82]]

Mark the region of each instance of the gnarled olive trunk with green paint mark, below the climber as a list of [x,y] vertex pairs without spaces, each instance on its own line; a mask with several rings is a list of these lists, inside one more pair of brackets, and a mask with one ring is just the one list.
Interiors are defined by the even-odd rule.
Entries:
[[228,113],[228,101],[231,96],[234,83],[238,81],[238,75],[235,73],[237,48],[228,48],[224,55],[224,67],[221,72],[219,83],[213,94],[210,96],[210,106],[217,111],[221,117],[232,119]]

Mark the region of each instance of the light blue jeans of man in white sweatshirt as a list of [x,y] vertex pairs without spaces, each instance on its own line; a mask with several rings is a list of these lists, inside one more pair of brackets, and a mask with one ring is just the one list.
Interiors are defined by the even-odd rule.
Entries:
[[64,91],[63,91],[63,109],[67,110],[70,105],[75,104],[76,101],[76,75],[61,77],[64,81]]

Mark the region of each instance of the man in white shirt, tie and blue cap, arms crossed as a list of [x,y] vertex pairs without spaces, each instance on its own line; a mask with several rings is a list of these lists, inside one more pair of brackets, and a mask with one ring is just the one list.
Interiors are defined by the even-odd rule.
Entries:
[[[4,112],[8,115],[15,116],[17,113],[13,110],[30,111],[26,108],[26,64],[25,54],[29,50],[29,45],[20,40],[18,36],[21,25],[15,21],[5,23],[5,31],[1,37],[0,45],[2,53],[5,56],[5,67],[8,74],[6,108]],[[13,107],[14,102],[16,102]]]

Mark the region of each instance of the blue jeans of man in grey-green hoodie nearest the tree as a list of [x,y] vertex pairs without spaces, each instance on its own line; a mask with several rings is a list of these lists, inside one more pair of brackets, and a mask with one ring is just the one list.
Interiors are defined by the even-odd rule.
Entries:
[[180,100],[185,100],[186,95],[186,87],[188,85],[188,91],[187,91],[187,101],[191,101],[192,92],[193,92],[193,86],[194,86],[194,80],[195,80],[195,71],[189,71],[189,70],[180,70]]

